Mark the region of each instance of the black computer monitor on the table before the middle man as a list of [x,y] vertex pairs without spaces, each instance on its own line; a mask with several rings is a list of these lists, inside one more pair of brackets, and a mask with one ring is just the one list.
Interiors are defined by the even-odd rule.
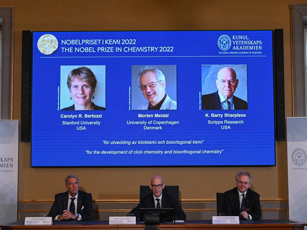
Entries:
[[144,215],[159,215],[160,223],[173,222],[174,209],[173,208],[140,208],[140,222],[144,222]]

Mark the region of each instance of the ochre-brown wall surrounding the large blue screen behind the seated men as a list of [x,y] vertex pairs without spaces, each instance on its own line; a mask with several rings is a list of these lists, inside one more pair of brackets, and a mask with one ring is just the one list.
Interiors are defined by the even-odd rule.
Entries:
[[[14,6],[13,119],[19,120],[21,113],[22,30],[283,29],[286,117],[291,117],[292,3],[286,0],[0,0],[0,6]],[[261,86],[255,87],[261,90]],[[64,178],[71,173],[78,175],[81,188],[91,192],[95,200],[138,199],[139,185],[148,184],[154,174],[160,174],[166,184],[178,184],[181,199],[214,199],[216,192],[235,186],[235,174],[242,170],[251,172],[254,177],[251,188],[260,193],[262,199],[288,198],[285,141],[276,142],[276,166],[246,168],[31,168],[30,148],[30,143],[20,143],[19,201],[52,200],[54,194],[65,190]]]

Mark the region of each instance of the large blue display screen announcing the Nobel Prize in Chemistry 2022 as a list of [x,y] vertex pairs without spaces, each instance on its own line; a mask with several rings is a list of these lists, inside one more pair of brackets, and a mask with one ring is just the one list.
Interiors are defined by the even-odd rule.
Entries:
[[272,31],[33,32],[33,167],[275,165]]

